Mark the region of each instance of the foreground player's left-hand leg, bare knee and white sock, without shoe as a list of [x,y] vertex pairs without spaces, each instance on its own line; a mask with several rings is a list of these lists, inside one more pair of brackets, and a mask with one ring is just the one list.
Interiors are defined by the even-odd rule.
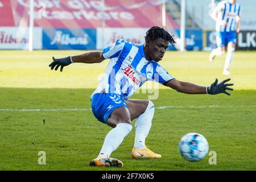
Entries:
[[114,129],[106,135],[98,158],[108,158],[130,133],[133,126],[131,125],[129,110],[124,106],[117,107],[110,114],[108,125],[114,127]]

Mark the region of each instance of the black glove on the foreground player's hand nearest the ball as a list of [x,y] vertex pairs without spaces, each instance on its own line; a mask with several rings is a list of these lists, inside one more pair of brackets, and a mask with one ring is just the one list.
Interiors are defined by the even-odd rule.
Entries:
[[230,93],[226,92],[226,90],[233,90],[232,88],[229,88],[228,86],[232,86],[234,84],[225,84],[225,82],[227,82],[229,80],[230,80],[230,78],[222,81],[220,84],[217,84],[218,79],[216,78],[214,83],[207,87],[207,93],[212,94],[212,95],[219,94],[219,93],[225,93],[228,96],[230,96]]

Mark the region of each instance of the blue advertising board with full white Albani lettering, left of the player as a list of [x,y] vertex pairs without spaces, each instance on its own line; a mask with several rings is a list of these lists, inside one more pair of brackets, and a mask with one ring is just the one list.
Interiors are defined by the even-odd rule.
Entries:
[[96,29],[44,28],[43,49],[96,49]]

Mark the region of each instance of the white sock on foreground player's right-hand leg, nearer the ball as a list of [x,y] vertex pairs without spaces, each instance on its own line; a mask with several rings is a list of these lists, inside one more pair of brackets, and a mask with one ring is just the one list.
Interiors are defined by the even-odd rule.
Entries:
[[154,104],[149,101],[147,105],[146,111],[142,115],[140,115],[135,123],[135,142],[134,147],[142,150],[146,147],[145,140],[147,134],[150,131],[151,121],[154,117],[155,106]]

